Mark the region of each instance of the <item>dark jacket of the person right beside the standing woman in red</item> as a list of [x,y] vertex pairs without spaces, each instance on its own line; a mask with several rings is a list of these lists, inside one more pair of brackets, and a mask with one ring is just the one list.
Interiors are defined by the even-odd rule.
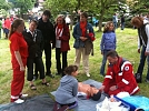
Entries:
[[24,40],[28,43],[29,58],[36,58],[42,56],[43,37],[40,30],[36,30],[34,32],[36,32],[34,34],[36,41],[33,41],[32,34],[28,30],[24,30],[22,32]]

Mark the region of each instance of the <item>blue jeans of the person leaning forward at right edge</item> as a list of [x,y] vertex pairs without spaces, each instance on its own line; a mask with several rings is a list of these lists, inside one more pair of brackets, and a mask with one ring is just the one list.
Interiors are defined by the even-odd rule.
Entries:
[[[145,56],[145,52],[146,52],[146,47],[142,46],[141,54],[140,54],[140,63],[137,70],[137,73],[140,73],[141,75],[142,75],[146,58],[148,57],[148,56]],[[149,57],[147,58],[147,62],[148,62],[147,80],[149,80]]]

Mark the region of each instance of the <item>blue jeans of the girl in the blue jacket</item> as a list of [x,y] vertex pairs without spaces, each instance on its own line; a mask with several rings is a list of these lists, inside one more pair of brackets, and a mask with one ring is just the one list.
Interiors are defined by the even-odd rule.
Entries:
[[105,50],[103,51],[103,57],[102,57],[102,64],[101,64],[101,68],[100,68],[100,74],[105,75],[105,65],[106,65],[106,62],[107,62],[107,53],[108,53],[109,50]]

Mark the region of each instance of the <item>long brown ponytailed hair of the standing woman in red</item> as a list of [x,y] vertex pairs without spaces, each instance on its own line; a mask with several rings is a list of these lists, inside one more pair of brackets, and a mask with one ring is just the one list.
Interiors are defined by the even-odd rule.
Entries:
[[11,34],[17,30],[17,28],[23,23],[23,19],[16,19],[12,24],[11,24],[11,28],[10,28],[10,32],[9,32],[9,38],[11,37]]

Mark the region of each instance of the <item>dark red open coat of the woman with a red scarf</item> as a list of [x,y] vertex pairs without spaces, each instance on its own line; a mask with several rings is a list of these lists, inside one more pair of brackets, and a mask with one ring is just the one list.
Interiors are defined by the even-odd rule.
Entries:
[[[57,24],[54,26],[54,30],[56,30],[56,28],[57,28]],[[70,50],[69,39],[70,39],[69,27],[67,24],[64,24],[62,36],[59,38],[59,40],[61,40],[61,48],[60,48],[61,51]]]

